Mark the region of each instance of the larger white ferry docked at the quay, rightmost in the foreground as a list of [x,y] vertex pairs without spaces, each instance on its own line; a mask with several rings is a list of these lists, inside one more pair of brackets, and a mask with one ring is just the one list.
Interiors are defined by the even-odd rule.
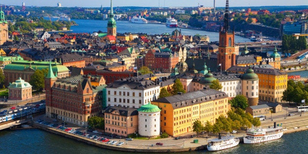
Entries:
[[276,126],[276,122],[274,122],[273,127],[248,129],[246,131],[247,136],[244,137],[244,143],[252,144],[279,139],[283,135],[282,129],[282,124]]

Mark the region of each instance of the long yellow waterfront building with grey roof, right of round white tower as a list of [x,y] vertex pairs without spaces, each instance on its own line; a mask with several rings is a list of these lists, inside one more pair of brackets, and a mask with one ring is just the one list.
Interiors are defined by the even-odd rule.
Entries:
[[215,123],[219,115],[226,115],[230,109],[228,95],[207,89],[178,94],[154,100],[152,104],[160,109],[160,131],[178,136],[193,131],[193,123],[200,120]]

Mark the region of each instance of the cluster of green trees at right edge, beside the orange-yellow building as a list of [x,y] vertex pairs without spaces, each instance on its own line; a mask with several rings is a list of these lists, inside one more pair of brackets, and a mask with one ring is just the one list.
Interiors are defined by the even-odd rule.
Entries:
[[294,102],[297,105],[304,105],[302,100],[308,101],[308,84],[302,82],[295,83],[293,80],[288,80],[287,88],[282,93],[282,100],[286,102]]

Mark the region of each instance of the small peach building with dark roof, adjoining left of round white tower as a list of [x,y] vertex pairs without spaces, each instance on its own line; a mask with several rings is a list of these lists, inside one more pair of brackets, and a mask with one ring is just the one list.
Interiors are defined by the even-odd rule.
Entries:
[[108,106],[104,110],[105,132],[128,136],[138,131],[138,111],[134,108]]

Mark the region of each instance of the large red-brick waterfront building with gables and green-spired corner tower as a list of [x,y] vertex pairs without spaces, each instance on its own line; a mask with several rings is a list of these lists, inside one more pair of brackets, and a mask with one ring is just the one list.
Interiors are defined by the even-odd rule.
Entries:
[[[94,86],[94,85],[97,86]],[[104,82],[101,76],[57,78],[51,64],[45,77],[46,116],[78,126],[87,126],[90,117],[103,108]]]

